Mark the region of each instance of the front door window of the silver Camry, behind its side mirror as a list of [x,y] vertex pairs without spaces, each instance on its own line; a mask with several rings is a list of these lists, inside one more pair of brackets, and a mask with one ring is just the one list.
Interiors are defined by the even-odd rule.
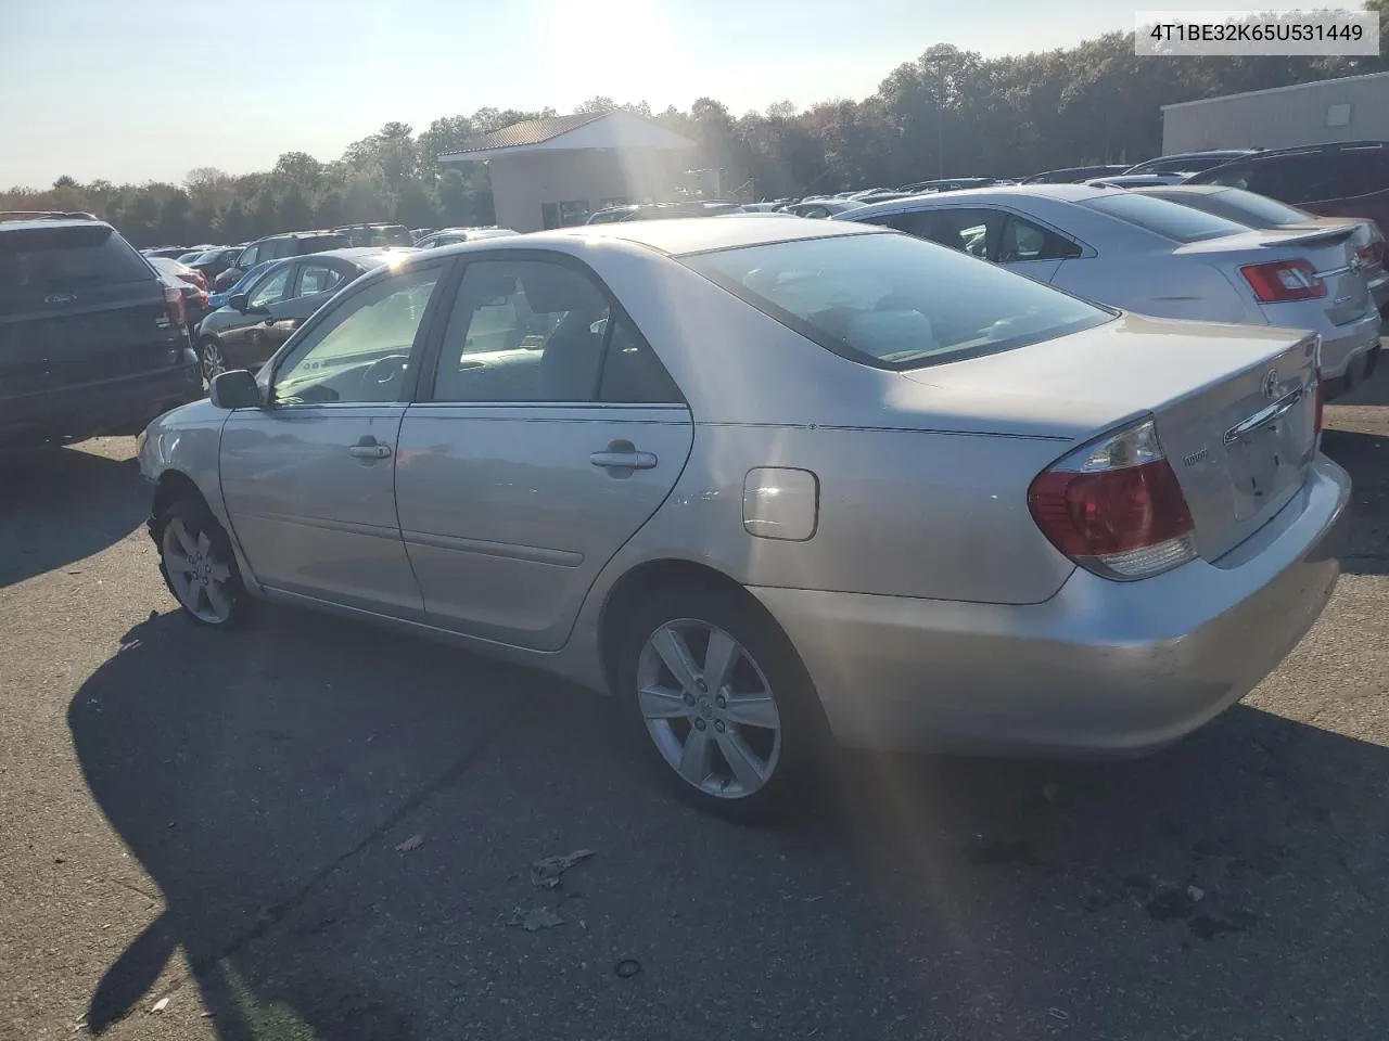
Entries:
[[400,401],[440,271],[435,265],[381,279],[333,308],[276,368],[274,403]]

